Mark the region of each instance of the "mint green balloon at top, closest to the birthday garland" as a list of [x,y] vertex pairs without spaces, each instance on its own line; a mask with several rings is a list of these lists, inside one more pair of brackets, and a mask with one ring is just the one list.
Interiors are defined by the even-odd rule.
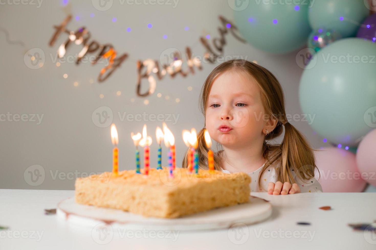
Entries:
[[262,51],[271,54],[294,51],[305,45],[311,28],[309,5],[295,5],[293,2],[283,1],[281,4],[275,0],[250,0],[244,10],[233,8],[235,24],[244,39]]

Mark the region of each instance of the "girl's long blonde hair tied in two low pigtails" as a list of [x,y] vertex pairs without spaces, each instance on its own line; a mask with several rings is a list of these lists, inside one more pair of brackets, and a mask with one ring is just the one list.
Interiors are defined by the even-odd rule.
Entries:
[[[263,157],[266,159],[265,166],[259,174],[258,185],[261,190],[261,176],[270,165],[274,165],[277,172],[277,181],[295,183],[290,167],[301,180],[310,180],[315,176],[315,156],[305,137],[293,125],[288,123],[285,113],[285,100],[282,87],[276,77],[267,69],[247,60],[234,59],[221,63],[209,74],[200,93],[200,110],[206,116],[206,106],[211,86],[220,74],[229,70],[237,70],[248,73],[253,77],[261,90],[261,99],[265,114],[277,120],[273,131],[264,138]],[[281,144],[268,144],[266,141],[275,139],[282,134],[285,127],[285,136]],[[205,127],[197,133],[199,153],[199,168],[208,169],[208,147],[204,137]],[[187,168],[188,148],[182,162],[182,167]],[[220,156],[214,154],[214,168],[221,170]],[[280,166],[280,167],[276,167]]]

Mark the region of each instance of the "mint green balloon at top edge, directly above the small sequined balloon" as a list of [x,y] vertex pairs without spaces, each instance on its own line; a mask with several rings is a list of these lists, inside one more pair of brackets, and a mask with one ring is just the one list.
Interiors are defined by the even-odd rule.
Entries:
[[369,13],[363,0],[316,0],[308,18],[314,30],[327,28],[340,32],[342,37],[350,37],[356,35]]

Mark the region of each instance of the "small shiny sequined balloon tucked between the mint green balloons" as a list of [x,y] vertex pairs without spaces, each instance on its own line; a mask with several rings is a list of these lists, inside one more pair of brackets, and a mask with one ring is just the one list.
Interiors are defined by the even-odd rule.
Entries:
[[308,37],[308,47],[314,49],[316,52],[324,48],[329,43],[341,39],[341,34],[334,30],[319,28],[312,31]]

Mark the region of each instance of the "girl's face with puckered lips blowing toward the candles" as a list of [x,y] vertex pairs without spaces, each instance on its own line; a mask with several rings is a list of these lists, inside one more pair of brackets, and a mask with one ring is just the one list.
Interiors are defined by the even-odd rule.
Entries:
[[213,82],[206,106],[206,129],[224,147],[264,140],[261,91],[247,73],[230,70]]

